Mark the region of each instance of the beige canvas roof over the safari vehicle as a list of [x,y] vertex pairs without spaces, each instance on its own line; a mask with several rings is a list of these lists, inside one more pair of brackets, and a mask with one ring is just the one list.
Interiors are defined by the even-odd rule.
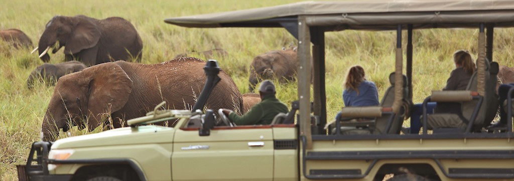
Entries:
[[282,27],[281,22],[304,16],[308,26],[325,31],[345,29],[394,30],[398,24],[419,28],[514,26],[512,0],[389,0],[301,2],[273,7],[168,18],[183,27]]

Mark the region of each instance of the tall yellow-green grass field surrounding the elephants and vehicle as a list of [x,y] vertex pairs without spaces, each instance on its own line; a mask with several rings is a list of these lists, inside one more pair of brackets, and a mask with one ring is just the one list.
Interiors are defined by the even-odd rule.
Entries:
[[[120,16],[131,21],[143,40],[142,63],[171,60],[189,50],[225,49],[229,56],[218,59],[241,93],[248,92],[249,64],[253,57],[279,50],[297,41],[284,29],[223,28],[191,29],[165,24],[164,18],[259,8],[297,2],[236,0],[175,1],[6,1],[2,0],[0,29],[17,28],[33,41],[34,47],[55,15],[83,14],[98,19]],[[495,29],[494,61],[513,66],[513,30]],[[404,33],[404,40],[406,39]],[[343,106],[342,83],[348,67],[360,64],[369,80],[376,83],[379,96],[389,86],[394,70],[395,32],[341,31],[326,33],[326,96],[328,119]],[[419,103],[431,90],[443,88],[454,69],[452,53],[470,50],[478,54],[478,29],[415,30],[413,36],[413,102]],[[405,42],[403,43],[405,46]],[[53,87],[38,84],[29,90],[29,73],[43,62],[30,50],[0,47],[0,179],[16,180],[15,166],[25,164],[30,145],[40,139],[41,123]],[[405,56],[404,56],[405,57]],[[62,62],[62,50],[51,55],[50,63]],[[204,59],[204,57],[198,57]],[[296,83],[278,86],[278,97],[290,104],[297,98]],[[406,121],[408,124],[408,121]],[[72,129],[71,135],[86,132]],[[61,138],[67,137],[61,133]]]

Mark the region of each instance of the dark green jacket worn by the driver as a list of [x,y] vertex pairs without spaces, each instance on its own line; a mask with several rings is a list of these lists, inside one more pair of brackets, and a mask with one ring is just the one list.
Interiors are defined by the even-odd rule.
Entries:
[[287,113],[289,109],[275,95],[267,95],[260,103],[253,105],[245,115],[238,116],[232,112],[228,118],[236,125],[271,124],[280,112]]

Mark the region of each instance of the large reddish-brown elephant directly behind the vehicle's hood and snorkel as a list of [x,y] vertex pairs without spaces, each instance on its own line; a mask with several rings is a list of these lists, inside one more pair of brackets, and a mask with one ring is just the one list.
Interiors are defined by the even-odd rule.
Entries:
[[[61,128],[69,129],[68,123],[94,130],[107,116],[111,116],[113,127],[121,127],[122,120],[145,116],[163,100],[169,109],[191,109],[207,79],[204,66],[203,60],[191,57],[150,65],[116,61],[65,75],[50,99],[42,125],[43,140],[55,140]],[[234,81],[224,71],[218,76],[221,81],[206,107],[241,112],[243,101]],[[87,121],[82,121],[84,118]]]

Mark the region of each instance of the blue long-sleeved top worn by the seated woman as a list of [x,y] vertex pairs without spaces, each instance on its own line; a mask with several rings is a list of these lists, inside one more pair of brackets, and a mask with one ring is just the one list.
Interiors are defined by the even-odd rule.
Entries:
[[359,84],[359,95],[355,90],[343,90],[344,106],[377,106],[378,89],[372,81],[364,80]]

